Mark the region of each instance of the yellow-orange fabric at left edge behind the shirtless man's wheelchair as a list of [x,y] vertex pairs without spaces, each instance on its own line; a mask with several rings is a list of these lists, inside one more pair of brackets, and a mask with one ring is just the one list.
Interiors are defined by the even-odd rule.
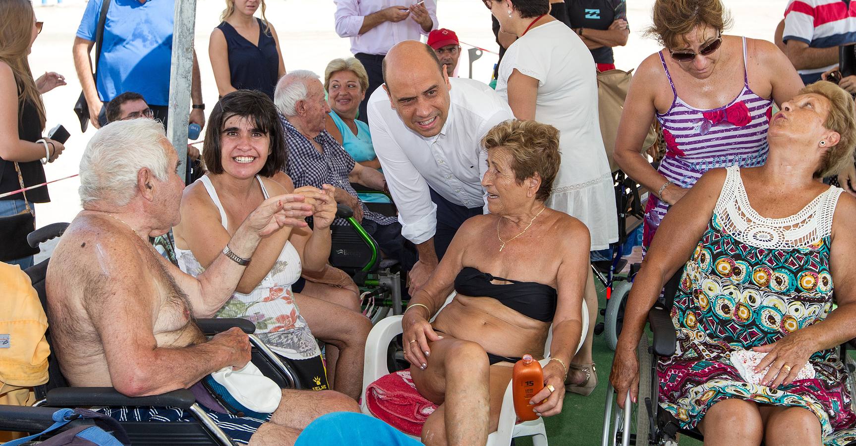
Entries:
[[0,296],[0,335],[9,335],[9,348],[0,345],[0,384],[45,384],[51,353],[45,339],[48,318],[30,277],[18,265],[0,262]]

